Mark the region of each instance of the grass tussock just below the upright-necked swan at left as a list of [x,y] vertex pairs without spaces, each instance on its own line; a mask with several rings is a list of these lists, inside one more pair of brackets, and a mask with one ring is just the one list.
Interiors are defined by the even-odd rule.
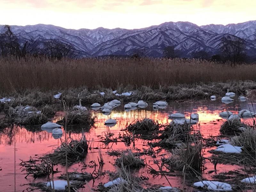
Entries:
[[[95,116],[88,110],[68,110],[67,111],[67,123],[68,125],[88,125],[93,126],[95,123]],[[65,124],[65,118],[61,119],[57,123]]]

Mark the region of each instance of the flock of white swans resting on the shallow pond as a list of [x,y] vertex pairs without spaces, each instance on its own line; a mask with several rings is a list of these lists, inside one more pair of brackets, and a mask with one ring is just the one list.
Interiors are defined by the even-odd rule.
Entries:
[[[221,98],[221,101],[226,103],[226,102],[233,102],[234,99],[231,97],[234,97],[236,94],[234,92],[227,92],[224,97]],[[56,95],[56,97],[59,97],[60,94]],[[210,97],[211,100],[216,100],[216,96],[212,95]],[[238,97],[239,100],[247,100],[246,97],[240,96]],[[119,100],[112,100],[110,102],[104,103],[103,106],[100,105],[100,103],[93,103],[91,105],[91,108],[93,110],[102,110],[102,113],[105,115],[109,115],[112,109],[116,108],[117,106],[121,105],[121,101]],[[166,101],[156,101],[153,103],[153,109],[157,110],[158,108],[166,108],[168,103]],[[137,103],[136,102],[129,102],[124,105],[124,110],[125,111],[130,111],[139,108],[146,108],[148,106],[148,103],[139,100]],[[81,104],[81,99],[79,100],[79,105],[76,105],[73,107],[75,110],[81,110],[85,111],[87,110],[86,107],[82,106]],[[238,114],[233,114],[230,111],[222,111],[219,113],[221,117],[227,118],[228,120],[234,120],[238,119],[240,120],[242,117],[252,117],[255,116],[256,114],[250,110],[243,109],[241,111],[238,111]],[[181,113],[173,113],[169,115],[169,118],[172,119],[170,124],[196,124],[199,121],[199,115],[197,113],[193,113],[190,115],[190,118],[186,118],[184,114]],[[115,119],[108,119],[105,121],[104,124],[108,126],[114,126],[116,124]],[[62,130],[60,129],[61,125],[52,123],[52,122],[47,122],[46,124],[43,124],[41,126],[42,129],[52,129],[52,135],[62,135]]]

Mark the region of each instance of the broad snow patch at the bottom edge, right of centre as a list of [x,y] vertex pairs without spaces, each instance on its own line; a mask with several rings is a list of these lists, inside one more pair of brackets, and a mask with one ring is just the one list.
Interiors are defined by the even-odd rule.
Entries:
[[194,183],[195,187],[206,187],[211,191],[232,191],[231,185],[219,181],[199,181]]

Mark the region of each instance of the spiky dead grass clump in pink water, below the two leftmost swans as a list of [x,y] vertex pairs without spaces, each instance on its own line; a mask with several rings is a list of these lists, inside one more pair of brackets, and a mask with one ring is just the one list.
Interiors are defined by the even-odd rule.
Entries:
[[64,140],[60,139],[61,145],[56,148],[53,153],[47,154],[43,159],[49,158],[54,164],[66,164],[66,147],[67,147],[67,158],[68,166],[72,165],[77,161],[82,161],[87,154],[88,143],[84,139],[73,140],[69,138],[67,144]]

